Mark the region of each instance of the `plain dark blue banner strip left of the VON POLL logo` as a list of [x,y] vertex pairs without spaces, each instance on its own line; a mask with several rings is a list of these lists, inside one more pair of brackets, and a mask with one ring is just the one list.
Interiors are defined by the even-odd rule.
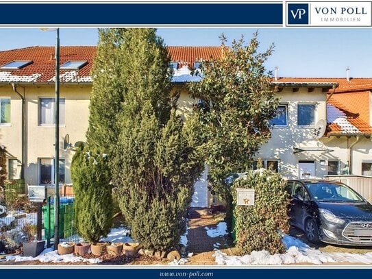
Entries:
[[0,25],[282,25],[282,3],[0,3]]

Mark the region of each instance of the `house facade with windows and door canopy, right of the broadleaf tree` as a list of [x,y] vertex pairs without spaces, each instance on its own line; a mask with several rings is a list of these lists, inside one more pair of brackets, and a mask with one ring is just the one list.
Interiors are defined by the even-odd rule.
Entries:
[[[316,84],[313,84],[315,86]],[[280,105],[286,106],[286,125],[274,125],[271,129],[271,139],[264,144],[256,158],[269,167],[270,162],[277,161],[277,169],[286,178],[321,178],[327,174],[325,160],[328,147],[319,141],[317,131],[325,129],[326,93],[324,87],[284,87],[278,93]],[[312,119],[301,119],[301,105],[314,108]],[[310,115],[311,116],[311,115]],[[301,123],[306,125],[301,125]]]

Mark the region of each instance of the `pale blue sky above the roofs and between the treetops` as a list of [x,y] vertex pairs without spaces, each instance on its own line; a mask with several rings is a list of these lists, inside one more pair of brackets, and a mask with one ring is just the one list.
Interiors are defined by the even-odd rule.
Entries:
[[[262,51],[275,44],[266,69],[279,67],[286,77],[345,77],[350,67],[351,77],[372,77],[371,28],[160,28],[158,34],[166,45],[216,46],[219,35],[228,40],[247,41],[258,30]],[[96,45],[95,28],[62,28],[61,45]],[[54,45],[55,32],[37,28],[0,28],[0,51],[34,45]]]

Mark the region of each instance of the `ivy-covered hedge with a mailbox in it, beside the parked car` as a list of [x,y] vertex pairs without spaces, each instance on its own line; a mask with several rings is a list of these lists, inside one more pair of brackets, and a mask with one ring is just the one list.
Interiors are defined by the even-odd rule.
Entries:
[[[237,206],[236,189],[254,189],[254,206]],[[249,171],[232,185],[234,202],[234,232],[239,254],[266,250],[282,253],[285,247],[280,231],[288,233],[289,197],[279,173],[265,169]]]

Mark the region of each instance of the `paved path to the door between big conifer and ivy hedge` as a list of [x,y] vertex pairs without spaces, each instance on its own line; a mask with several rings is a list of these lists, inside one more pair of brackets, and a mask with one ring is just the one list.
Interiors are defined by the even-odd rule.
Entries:
[[193,253],[188,265],[216,265],[213,254],[214,248],[232,255],[230,250],[229,236],[210,237],[207,234],[206,227],[213,229],[217,227],[220,220],[216,220],[214,215],[210,214],[208,208],[190,208],[188,210],[189,228],[188,228],[188,253]]

